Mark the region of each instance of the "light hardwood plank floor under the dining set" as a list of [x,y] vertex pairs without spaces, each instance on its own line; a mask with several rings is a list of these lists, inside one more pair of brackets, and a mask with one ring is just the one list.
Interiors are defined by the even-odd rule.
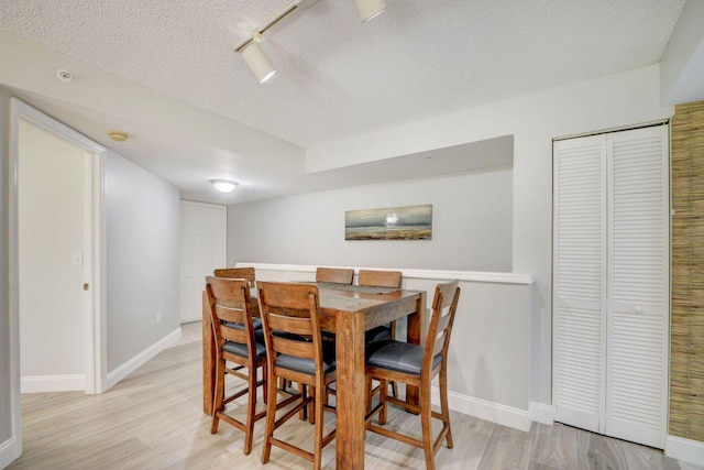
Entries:
[[[261,463],[264,420],[255,426],[249,456],[242,453],[243,434],[227,423],[210,434],[202,414],[200,348],[200,324],[187,324],[176,345],[101,395],[23,395],[23,456],[9,468],[309,469],[309,462],[276,448],[270,463]],[[312,442],[312,425],[289,423],[282,428],[287,438]],[[326,423],[333,426],[334,415],[326,414]],[[398,408],[391,409],[387,426],[420,429],[419,418]],[[441,447],[436,457],[439,469],[680,468],[659,450],[562,425],[535,424],[522,433],[452,413],[452,434],[454,448]],[[369,469],[425,467],[419,449],[373,433],[365,449]],[[323,449],[323,468],[334,468],[334,441]]]

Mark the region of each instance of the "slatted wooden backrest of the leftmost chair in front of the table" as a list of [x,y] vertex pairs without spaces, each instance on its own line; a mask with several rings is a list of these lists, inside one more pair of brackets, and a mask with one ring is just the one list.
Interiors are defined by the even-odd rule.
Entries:
[[[226,341],[233,341],[246,345],[249,357],[255,358],[254,327],[249,311],[249,282],[240,278],[207,276],[206,292],[218,354]],[[233,328],[231,324],[243,325],[243,328]]]

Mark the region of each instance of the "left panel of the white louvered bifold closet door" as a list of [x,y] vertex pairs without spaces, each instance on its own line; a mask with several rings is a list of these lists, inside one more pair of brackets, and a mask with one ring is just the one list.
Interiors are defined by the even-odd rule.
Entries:
[[554,143],[556,419],[601,431],[606,328],[606,151],[602,136]]

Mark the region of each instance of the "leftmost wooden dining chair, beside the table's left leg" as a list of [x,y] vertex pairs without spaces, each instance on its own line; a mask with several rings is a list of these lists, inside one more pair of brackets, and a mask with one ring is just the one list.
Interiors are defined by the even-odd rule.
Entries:
[[[206,277],[206,293],[210,306],[210,325],[216,342],[216,386],[212,400],[210,433],[218,431],[220,419],[244,431],[244,453],[252,450],[254,423],[266,415],[266,409],[256,413],[256,389],[266,384],[266,348],[255,340],[252,316],[249,311],[250,288],[246,280]],[[228,362],[238,364],[229,367]],[[246,373],[242,372],[246,369]],[[263,370],[257,380],[258,369]],[[246,382],[230,396],[226,394],[228,374]],[[246,420],[242,423],[226,412],[228,403],[248,395]],[[264,387],[264,402],[268,391]],[[273,400],[272,402],[276,402]]]

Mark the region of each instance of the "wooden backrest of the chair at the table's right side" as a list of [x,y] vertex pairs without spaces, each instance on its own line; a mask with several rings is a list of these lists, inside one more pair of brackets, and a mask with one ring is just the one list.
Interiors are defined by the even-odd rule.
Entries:
[[424,372],[432,370],[436,356],[442,354],[442,362],[447,363],[450,335],[454,324],[454,314],[460,300],[460,286],[458,281],[438,284],[432,299],[432,317],[428,328],[428,339],[422,358]]

